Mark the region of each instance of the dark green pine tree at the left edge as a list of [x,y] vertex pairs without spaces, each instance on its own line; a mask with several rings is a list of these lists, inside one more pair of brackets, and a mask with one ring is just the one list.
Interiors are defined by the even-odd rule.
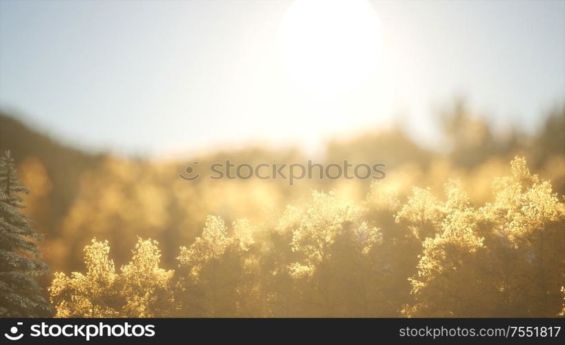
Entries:
[[17,177],[10,151],[0,158],[0,317],[41,317],[50,314],[50,304],[35,277],[48,272],[37,257],[41,239],[30,219],[19,213],[19,197],[29,194]]

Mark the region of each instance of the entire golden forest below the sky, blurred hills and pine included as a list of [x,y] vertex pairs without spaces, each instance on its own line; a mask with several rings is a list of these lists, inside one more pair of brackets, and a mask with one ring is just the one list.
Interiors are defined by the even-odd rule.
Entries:
[[[565,107],[530,133],[484,118],[439,114],[445,152],[397,128],[332,141],[325,161],[386,178],[289,187],[188,182],[189,159],[68,148],[3,116],[0,315],[564,316]],[[190,161],[227,157],[304,154]]]

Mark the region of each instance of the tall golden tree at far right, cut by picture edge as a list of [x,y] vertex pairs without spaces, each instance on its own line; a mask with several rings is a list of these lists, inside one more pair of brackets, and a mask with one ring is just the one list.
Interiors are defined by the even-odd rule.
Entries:
[[497,315],[554,316],[565,284],[565,204],[526,159],[510,166],[510,176],[495,179],[495,200],[481,208]]

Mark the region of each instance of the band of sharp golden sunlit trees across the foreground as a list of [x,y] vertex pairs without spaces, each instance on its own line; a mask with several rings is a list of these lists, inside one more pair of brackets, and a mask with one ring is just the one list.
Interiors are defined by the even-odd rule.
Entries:
[[405,202],[383,181],[361,202],[314,191],[231,228],[209,215],[176,273],[156,241],[116,272],[93,239],[86,273],[57,273],[51,300],[58,317],[563,315],[565,204],[549,181],[516,157],[479,206],[464,179]]

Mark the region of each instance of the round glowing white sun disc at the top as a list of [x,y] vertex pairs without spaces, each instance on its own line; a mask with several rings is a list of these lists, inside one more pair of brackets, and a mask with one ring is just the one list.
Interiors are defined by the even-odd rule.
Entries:
[[376,69],[379,17],[364,0],[297,0],[283,17],[279,44],[285,68],[300,87],[334,97]]

